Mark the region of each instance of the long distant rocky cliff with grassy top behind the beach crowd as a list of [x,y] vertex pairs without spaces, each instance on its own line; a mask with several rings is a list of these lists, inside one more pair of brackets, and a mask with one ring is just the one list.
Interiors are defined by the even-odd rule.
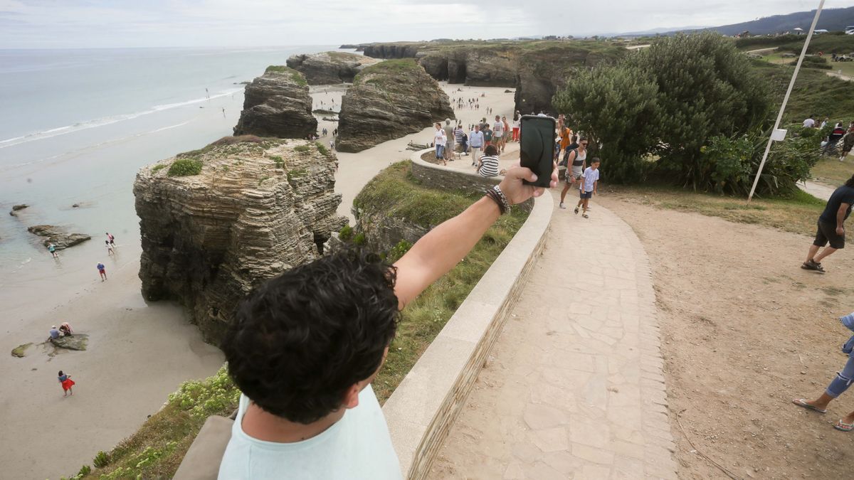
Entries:
[[573,68],[612,61],[622,44],[592,40],[366,44],[365,55],[412,57],[430,76],[452,84],[516,87],[516,109],[552,112],[552,96]]

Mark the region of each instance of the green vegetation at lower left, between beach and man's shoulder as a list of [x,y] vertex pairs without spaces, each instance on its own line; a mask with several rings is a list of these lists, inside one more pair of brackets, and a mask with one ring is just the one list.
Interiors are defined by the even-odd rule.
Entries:
[[97,470],[85,478],[171,478],[210,415],[230,415],[239,390],[225,366],[213,377],[184,382],[132,436],[109,453],[98,452]]

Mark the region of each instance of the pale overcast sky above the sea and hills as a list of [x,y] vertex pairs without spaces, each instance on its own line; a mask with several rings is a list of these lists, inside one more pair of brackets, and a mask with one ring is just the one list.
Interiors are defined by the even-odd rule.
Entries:
[[[726,25],[817,5],[817,0],[0,0],[0,49],[577,37]],[[852,5],[852,0],[828,0],[825,8]]]

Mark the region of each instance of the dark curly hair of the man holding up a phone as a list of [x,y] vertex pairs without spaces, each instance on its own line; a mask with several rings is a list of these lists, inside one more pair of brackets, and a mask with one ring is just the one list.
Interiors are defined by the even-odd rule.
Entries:
[[266,412],[310,424],[377,371],[400,317],[396,271],[346,249],[267,280],[243,301],[222,350],[237,387]]

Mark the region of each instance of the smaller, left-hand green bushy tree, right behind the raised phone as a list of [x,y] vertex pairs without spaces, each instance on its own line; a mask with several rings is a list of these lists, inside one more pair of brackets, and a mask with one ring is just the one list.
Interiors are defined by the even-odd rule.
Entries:
[[621,62],[577,70],[552,103],[588,136],[591,146],[602,144],[608,179],[633,182],[642,179],[642,158],[657,143],[648,128],[658,118],[657,97],[658,86],[650,75]]

